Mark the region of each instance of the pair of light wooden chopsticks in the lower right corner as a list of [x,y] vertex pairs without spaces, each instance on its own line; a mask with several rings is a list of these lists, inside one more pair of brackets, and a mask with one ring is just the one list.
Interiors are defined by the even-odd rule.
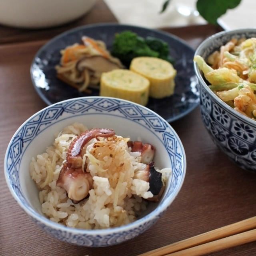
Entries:
[[[196,255],[203,255],[203,254],[208,253],[207,250],[215,249],[215,247],[217,247],[218,244],[220,247],[217,250],[222,250],[224,248],[228,248],[228,247],[232,247],[232,246],[236,246],[236,245],[240,245],[240,244],[245,244],[247,242],[255,241],[256,240],[256,229],[252,230],[253,228],[256,228],[256,216],[252,217],[252,218],[248,218],[246,220],[242,220],[240,222],[230,224],[228,226],[224,226],[222,228],[217,228],[215,230],[200,234],[198,236],[193,236],[191,238],[187,238],[185,240],[176,242],[174,244],[163,246],[161,248],[140,254],[138,256],[164,256],[164,255],[170,255],[170,256],[175,256],[175,255],[192,256],[193,255],[193,256],[196,256]],[[251,230],[251,231],[248,231],[248,230]],[[246,240],[244,240],[244,238],[246,238]],[[224,240],[224,239],[226,239],[226,240]],[[212,245],[213,241],[215,242],[214,245]],[[229,246],[223,247],[225,245],[225,243],[229,243]],[[198,248],[199,246],[202,246],[202,247]],[[188,248],[190,248],[191,252],[185,252],[185,250]],[[192,248],[193,248],[193,250],[192,250]],[[173,254],[173,252],[175,253],[175,252],[178,252],[181,250],[184,250],[184,252],[188,253],[188,254]],[[199,250],[203,250],[203,254],[192,254],[192,253],[195,253],[195,252],[193,252],[194,250],[195,250],[195,252],[196,251],[198,252]],[[216,251],[216,250],[214,250],[214,251]],[[209,251],[209,253],[210,252],[213,252],[213,251]]]

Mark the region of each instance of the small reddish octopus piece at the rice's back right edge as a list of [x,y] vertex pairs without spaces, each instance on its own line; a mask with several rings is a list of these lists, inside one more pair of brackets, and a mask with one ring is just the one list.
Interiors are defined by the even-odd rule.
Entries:
[[145,143],[143,144],[141,141],[129,141],[128,143],[128,147],[132,148],[132,152],[140,152],[141,155],[141,162],[143,164],[149,164],[153,158],[154,158],[154,154],[156,151],[156,148],[149,144],[149,143]]

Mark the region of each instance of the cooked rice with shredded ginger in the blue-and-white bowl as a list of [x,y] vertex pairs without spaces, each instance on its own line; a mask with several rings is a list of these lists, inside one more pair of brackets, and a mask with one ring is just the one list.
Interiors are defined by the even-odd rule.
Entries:
[[[94,138],[84,146],[82,167],[87,166],[86,172],[90,172],[93,179],[88,198],[74,204],[66,190],[56,186],[70,143],[86,130],[88,128],[80,123],[67,126],[57,134],[46,152],[32,158],[29,170],[39,189],[42,212],[54,222],[83,229],[133,222],[146,210],[144,199],[153,194],[148,191],[149,182],[136,177],[146,164],[140,163],[139,152],[131,152],[128,148],[128,138]],[[170,175],[170,169],[163,170]],[[166,176],[162,179],[165,182]]]

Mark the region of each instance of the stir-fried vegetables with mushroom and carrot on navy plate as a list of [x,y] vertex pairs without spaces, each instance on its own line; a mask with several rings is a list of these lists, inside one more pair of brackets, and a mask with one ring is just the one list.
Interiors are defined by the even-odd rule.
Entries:
[[57,78],[81,92],[99,89],[102,72],[123,68],[117,58],[111,56],[104,42],[82,36],[83,44],[73,44],[60,51],[60,64],[56,66]]

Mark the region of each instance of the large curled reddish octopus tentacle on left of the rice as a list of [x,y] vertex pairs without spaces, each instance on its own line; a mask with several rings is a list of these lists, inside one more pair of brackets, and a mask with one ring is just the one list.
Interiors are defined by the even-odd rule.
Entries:
[[93,180],[88,172],[82,170],[82,149],[93,138],[111,137],[115,132],[111,129],[91,129],[82,132],[71,143],[66,154],[66,163],[60,170],[56,185],[64,188],[68,197],[75,204],[88,196]]

